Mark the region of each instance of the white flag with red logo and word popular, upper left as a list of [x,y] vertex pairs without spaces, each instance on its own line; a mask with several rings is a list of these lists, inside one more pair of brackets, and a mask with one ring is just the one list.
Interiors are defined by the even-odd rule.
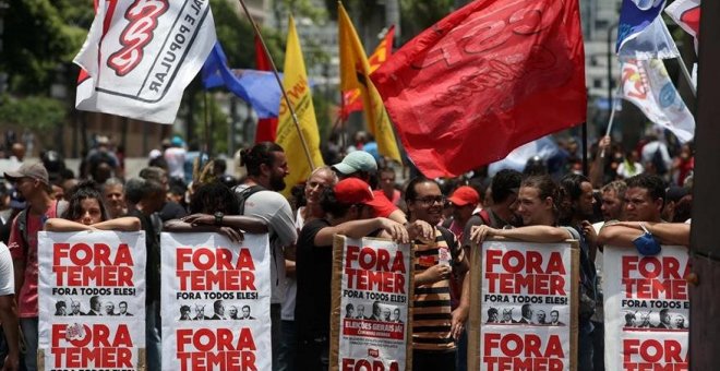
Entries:
[[209,0],[100,0],[74,59],[75,107],[172,123],[215,40]]

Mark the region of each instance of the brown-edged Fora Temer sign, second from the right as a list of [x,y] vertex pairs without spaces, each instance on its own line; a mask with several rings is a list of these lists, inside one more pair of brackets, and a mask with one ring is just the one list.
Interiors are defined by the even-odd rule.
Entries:
[[472,248],[469,370],[575,370],[579,251],[488,240]]

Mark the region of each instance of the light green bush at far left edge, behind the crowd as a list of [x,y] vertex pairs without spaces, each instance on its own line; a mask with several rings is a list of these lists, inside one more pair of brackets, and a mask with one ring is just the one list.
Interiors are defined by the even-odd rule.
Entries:
[[36,131],[49,131],[64,122],[68,107],[48,97],[28,96],[21,99],[0,97],[0,124],[22,125]]

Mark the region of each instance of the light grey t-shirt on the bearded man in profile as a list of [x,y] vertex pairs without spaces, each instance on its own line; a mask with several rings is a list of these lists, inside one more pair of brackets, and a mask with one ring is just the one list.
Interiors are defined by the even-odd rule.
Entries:
[[[238,185],[236,192],[244,191],[248,185]],[[279,304],[285,297],[285,254],[283,249],[295,243],[298,231],[292,220],[290,203],[273,191],[260,191],[245,200],[244,215],[256,216],[267,224],[271,243],[271,303]]]

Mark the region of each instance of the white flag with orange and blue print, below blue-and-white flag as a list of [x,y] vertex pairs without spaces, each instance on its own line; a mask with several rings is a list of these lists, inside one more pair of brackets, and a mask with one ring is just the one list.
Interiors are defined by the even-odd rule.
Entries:
[[623,98],[645,116],[675,134],[681,142],[695,136],[695,118],[670,81],[660,59],[623,62]]

